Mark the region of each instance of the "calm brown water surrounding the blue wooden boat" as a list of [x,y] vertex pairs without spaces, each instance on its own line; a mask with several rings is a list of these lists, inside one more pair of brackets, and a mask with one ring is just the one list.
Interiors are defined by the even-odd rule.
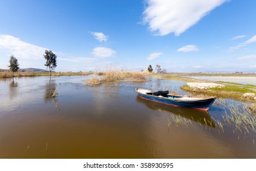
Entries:
[[[256,133],[217,126],[225,112],[220,104],[200,112],[135,93],[141,87],[186,94],[179,89],[186,82],[91,87],[88,78],[1,79],[0,158],[256,158]],[[58,96],[47,97],[57,85]]]

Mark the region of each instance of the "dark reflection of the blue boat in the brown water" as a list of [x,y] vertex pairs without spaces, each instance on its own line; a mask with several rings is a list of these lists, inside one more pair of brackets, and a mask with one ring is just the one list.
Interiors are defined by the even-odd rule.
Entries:
[[194,122],[200,123],[200,125],[207,125],[213,128],[216,128],[216,124],[213,121],[213,118],[207,111],[200,111],[197,109],[190,109],[187,107],[176,107],[169,106],[161,103],[155,103],[153,101],[148,101],[137,96],[137,101],[143,104],[146,104],[150,109],[157,111],[167,111],[171,114],[175,114],[184,118],[188,118]]

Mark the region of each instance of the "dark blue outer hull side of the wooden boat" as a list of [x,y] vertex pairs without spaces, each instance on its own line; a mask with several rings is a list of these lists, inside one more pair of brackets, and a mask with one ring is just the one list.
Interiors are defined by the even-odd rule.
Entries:
[[178,100],[175,98],[167,98],[163,96],[148,95],[138,92],[138,96],[146,100],[155,101],[157,103],[167,104],[170,106],[179,106],[179,107],[190,107],[198,110],[207,111],[209,107],[214,103],[216,98],[204,98],[202,100]]

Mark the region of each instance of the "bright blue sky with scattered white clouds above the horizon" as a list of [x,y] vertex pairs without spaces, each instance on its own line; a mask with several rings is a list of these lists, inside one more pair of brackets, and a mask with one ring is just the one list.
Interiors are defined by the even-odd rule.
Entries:
[[0,0],[0,68],[256,72],[255,0]]

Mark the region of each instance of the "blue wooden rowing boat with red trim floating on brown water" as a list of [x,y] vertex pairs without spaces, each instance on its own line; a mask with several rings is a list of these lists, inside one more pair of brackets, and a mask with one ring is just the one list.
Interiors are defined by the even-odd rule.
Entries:
[[135,89],[138,96],[146,100],[157,103],[167,104],[170,106],[190,107],[202,111],[207,111],[214,103],[216,97],[192,97],[177,95],[175,93],[169,94],[167,91]]

